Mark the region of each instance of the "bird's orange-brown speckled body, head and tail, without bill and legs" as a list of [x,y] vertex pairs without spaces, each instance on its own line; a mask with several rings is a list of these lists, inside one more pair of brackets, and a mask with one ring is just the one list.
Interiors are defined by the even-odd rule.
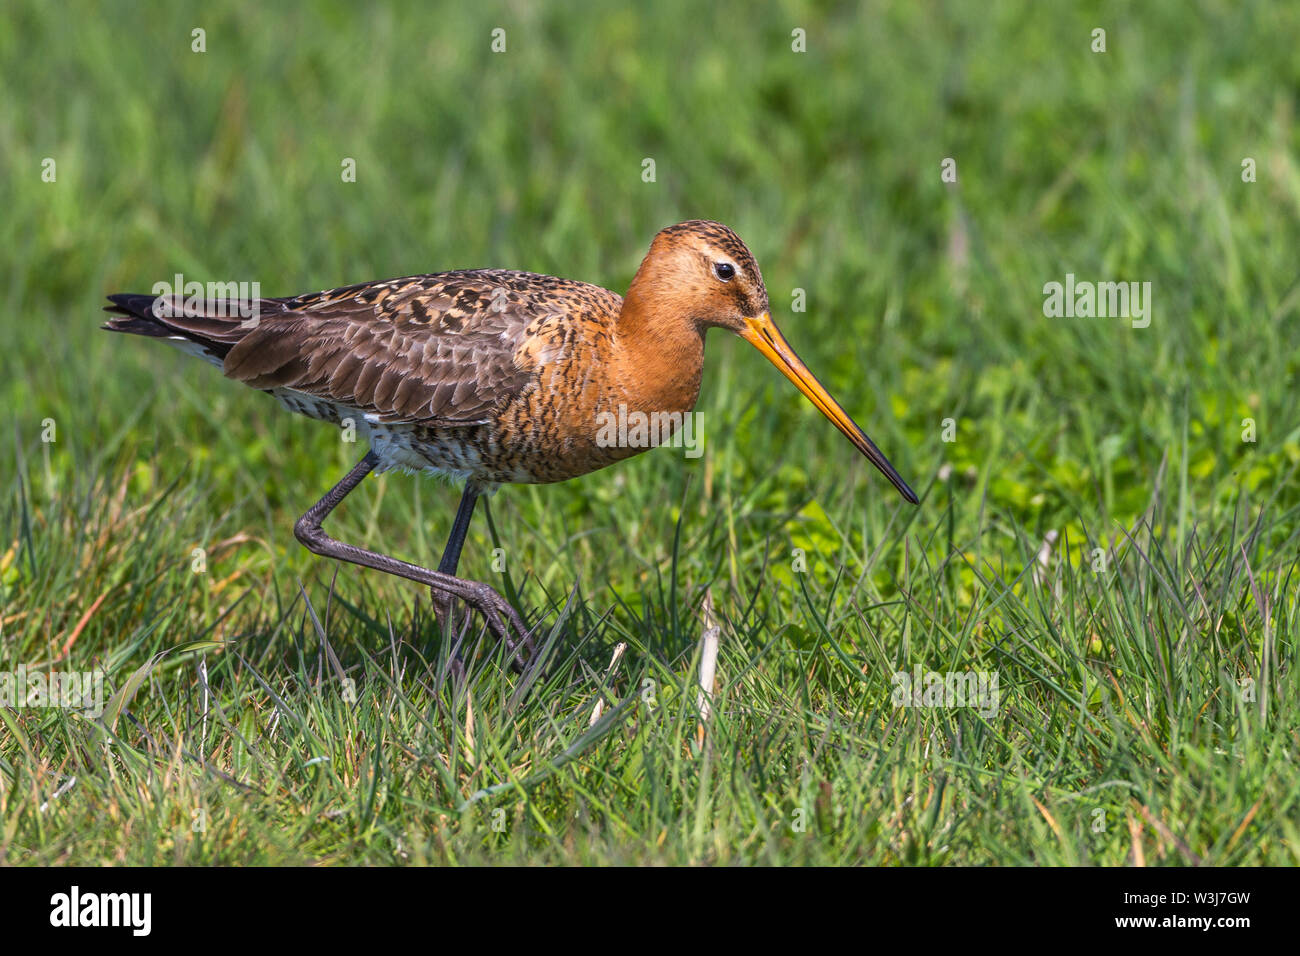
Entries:
[[[708,272],[719,256],[741,272],[725,286]],[[290,411],[352,419],[381,468],[546,483],[642,451],[602,447],[598,415],[690,411],[703,330],[725,324],[701,316],[767,307],[749,250],[706,221],[664,229],[633,291],[624,303],[586,282],[473,269],[263,299],[251,326],[218,315],[247,310],[157,317],[153,297],[117,295],[107,328],[168,338]]]

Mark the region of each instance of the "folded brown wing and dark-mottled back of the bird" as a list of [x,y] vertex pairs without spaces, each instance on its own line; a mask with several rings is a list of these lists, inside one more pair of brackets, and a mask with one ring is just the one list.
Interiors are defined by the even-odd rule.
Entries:
[[585,282],[476,269],[260,304],[256,323],[160,321],[218,345],[225,373],[254,388],[294,389],[384,423],[464,425],[488,421],[524,389],[536,372],[525,346],[538,329],[578,308],[616,313],[621,299]]

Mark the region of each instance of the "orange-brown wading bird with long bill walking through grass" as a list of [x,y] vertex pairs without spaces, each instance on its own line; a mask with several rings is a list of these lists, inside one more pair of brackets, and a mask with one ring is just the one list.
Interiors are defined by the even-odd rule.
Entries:
[[[456,576],[477,499],[504,484],[577,477],[651,447],[611,440],[610,416],[658,414],[666,429],[684,421],[699,395],[711,328],[753,345],[905,501],[918,503],[786,342],[758,263],[720,222],[659,230],[624,297],[555,276],[464,269],[290,298],[174,291],[108,300],[104,329],[161,338],[290,411],[351,423],[368,449],[298,519],[296,538],[318,555],[426,585],[438,609],[464,601],[516,669],[536,653],[523,618],[490,585]],[[367,475],[394,470],[441,473],[463,486],[437,568],[322,529]]]

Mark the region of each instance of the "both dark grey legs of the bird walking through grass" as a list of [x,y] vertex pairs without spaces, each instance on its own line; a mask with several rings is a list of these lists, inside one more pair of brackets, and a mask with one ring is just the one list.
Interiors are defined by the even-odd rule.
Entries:
[[[398,578],[406,578],[420,584],[425,584],[429,588],[436,588],[452,597],[459,597],[462,601],[468,604],[476,611],[484,615],[488,622],[488,627],[491,632],[497,635],[499,640],[506,644],[506,649],[511,653],[511,658],[516,667],[523,667],[526,659],[533,656],[533,637],[524,627],[524,622],[520,620],[519,614],[514,607],[493,591],[486,584],[478,581],[467,581],[456,578],[455,575],[446,574],[443,571],[430,571],[426,567],[420,567],[419,564],[408,564],[404,561],[398,561],[396,558],[390,558],[376,551],[368,551],[364,548],[356,548],[355,545],[346,545],[342,541],[335,541],[329,535],[321,529],[321,522],[338,507],[338,503],[347,497],[348,492],[361,484],[361,479],[374,471],[374,466],[380,463],[373,451],[367,451],[365,458],[363,458],[352,471],[350,471],[342,481],[334,485],[329,493],[315,505],[308,509],[307,514],[298,519],[298,524],[294,525],[294,536],[302,541],[308,550],[321,554],[326,558],[334,558],[337,561],[347,561],[352,564],[361,564],[363,567],[370,567],[376,571],[386,571],[390,575],[396,575]],[[476,496],[477,497],[477,496]],[[464,501],[462,501],[462,510],[464,510]],[[473,510],[473,502],[471,501],[469,510]],[[469,516],[465,515],[464,524],[468,527]],[[460,515],[456,515],[456,525],[460,524]],[[456,527],[452,528],[452,541],[456,540]],[[464,528],[460,528],[460,540],[464,540]],[[448,550],[452,544],[448,541]],[[456,541],[456,558],[459,559],[460,545]],[[447,561],[447,555],[443,555],[443,562]],[[452,562],[455,566],[455,562]],[[519,635],[517,639],[512,637],[511,630]],[[526,652],[524,654],[520,650]]]

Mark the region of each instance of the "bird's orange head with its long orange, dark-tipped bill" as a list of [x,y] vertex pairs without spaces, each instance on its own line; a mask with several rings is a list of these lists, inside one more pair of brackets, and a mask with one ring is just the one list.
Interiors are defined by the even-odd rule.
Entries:
[[723,328],[753,345],[889,479],[905,499],[916,503],[916,494],[889,459],[831,397],[776,328],[758,263],[731,229],[722,222],[692,220],[660,230],[637,271],[629,290],[629,298],[633,297],[638,302],[671,302],[676,316],[694,323],[701,334],[710,328]]

